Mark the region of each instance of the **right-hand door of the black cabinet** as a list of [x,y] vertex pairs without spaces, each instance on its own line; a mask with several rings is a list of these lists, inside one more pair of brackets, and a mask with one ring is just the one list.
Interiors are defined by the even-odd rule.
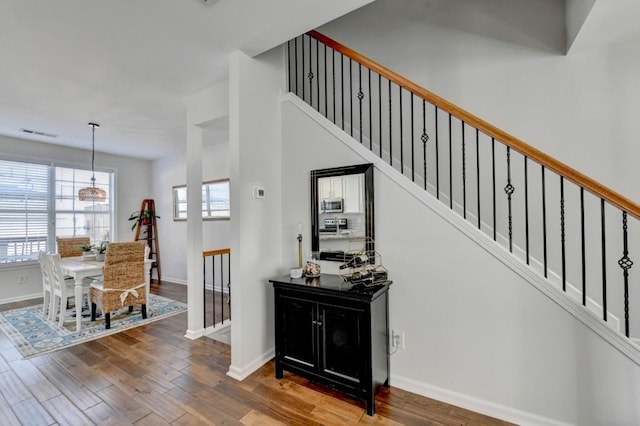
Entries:
[[321,338],[320,368],[335,380],[358,384],[363,380],[364,312],[332,305],[318,305]]

